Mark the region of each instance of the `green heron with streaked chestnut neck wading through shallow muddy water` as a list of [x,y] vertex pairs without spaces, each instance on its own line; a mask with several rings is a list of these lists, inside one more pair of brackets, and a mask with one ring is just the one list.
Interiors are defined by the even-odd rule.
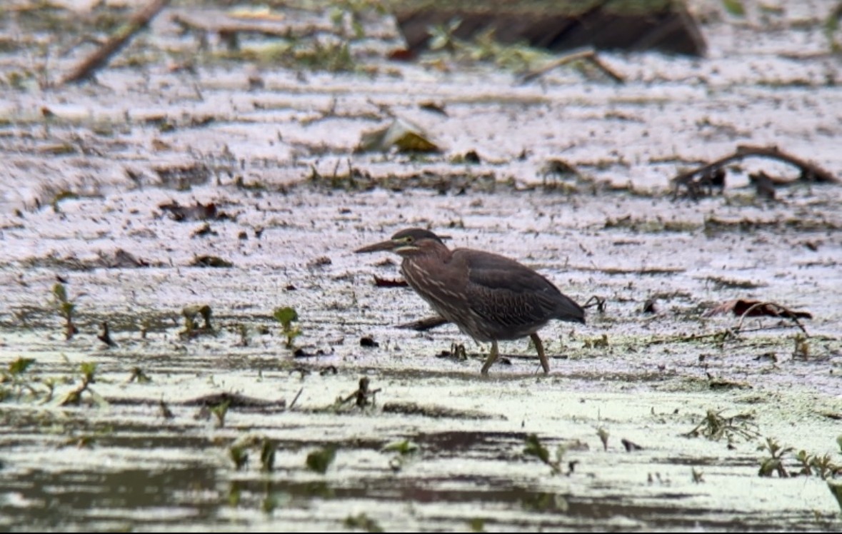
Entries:
[[544,372],[549,372],[538,330],[550,319],[584,323],[581,306],[514,259],[470,248],[450,250],[439,236],[422,228],[402,230],[388,241],[355,252],[380,250],[403,258],[403,277],[443,318],[473,339],[491,342],[483,375],[497,360],[498,340],[527,335],[535,343]]

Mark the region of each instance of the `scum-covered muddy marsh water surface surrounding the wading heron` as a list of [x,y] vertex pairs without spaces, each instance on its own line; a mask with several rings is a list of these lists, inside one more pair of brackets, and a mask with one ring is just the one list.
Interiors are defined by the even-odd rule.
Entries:
[[[279,67],[164,10],[46,88],[71,15],[3,18],[0,526],[839,531],[839,184],[669,185],[738,145],[842,175],[830,4],[703,6],[708,58],[602,55],[621,85],[386,62],[375,16],[342,72]],[[354,151],[394,116],[440,152]],[[549,375],[524,339],[482,379],[353,254],[410,226],[602,305],[541,331]]]

